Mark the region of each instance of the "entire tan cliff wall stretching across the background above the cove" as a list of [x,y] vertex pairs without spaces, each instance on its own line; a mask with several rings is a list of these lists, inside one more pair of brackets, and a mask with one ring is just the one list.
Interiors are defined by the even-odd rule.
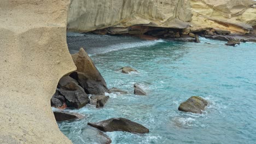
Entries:
[[190,25],[192,31],[220,28],[245,34],[256,25],[252,4],[251,0],[73,0],[68,30],[89,32],[134,25],[183,29]]

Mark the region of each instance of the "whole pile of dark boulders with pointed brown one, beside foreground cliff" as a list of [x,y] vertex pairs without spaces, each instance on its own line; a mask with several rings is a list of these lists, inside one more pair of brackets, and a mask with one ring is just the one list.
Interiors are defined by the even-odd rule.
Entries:
[[[100,72],[83,48],[72,58],[77,70],[60,79],[56,93],[51,98],[51,106],[80,109],[90,103],[103,107],[109,97],[104,95],[108,88]],[[90,98],[89,94],[92,94]]]

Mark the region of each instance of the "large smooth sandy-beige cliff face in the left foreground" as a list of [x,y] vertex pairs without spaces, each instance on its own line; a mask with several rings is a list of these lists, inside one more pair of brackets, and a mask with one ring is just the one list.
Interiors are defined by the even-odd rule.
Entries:
[[67,49],[68,0],[0,1],[0,143],[71,143],[50,99],[75,70]]

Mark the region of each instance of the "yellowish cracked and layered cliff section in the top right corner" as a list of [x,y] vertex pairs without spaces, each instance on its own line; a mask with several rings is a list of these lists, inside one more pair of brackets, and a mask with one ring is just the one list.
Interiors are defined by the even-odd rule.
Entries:
[[251,0],[190,0],[192,8],[191,31],[219,28],[235,34],[245,34],[256,25],[255,3]]

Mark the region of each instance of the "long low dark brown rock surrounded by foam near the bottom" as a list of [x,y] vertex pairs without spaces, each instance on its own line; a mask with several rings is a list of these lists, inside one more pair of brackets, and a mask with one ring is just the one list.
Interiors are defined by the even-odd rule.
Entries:
[[149,129],[143,125],[132,122],[126,118],[110,118],[106,121],[88,124],[102,131],[127,131],[129,133],[139,134],[149,133]]

